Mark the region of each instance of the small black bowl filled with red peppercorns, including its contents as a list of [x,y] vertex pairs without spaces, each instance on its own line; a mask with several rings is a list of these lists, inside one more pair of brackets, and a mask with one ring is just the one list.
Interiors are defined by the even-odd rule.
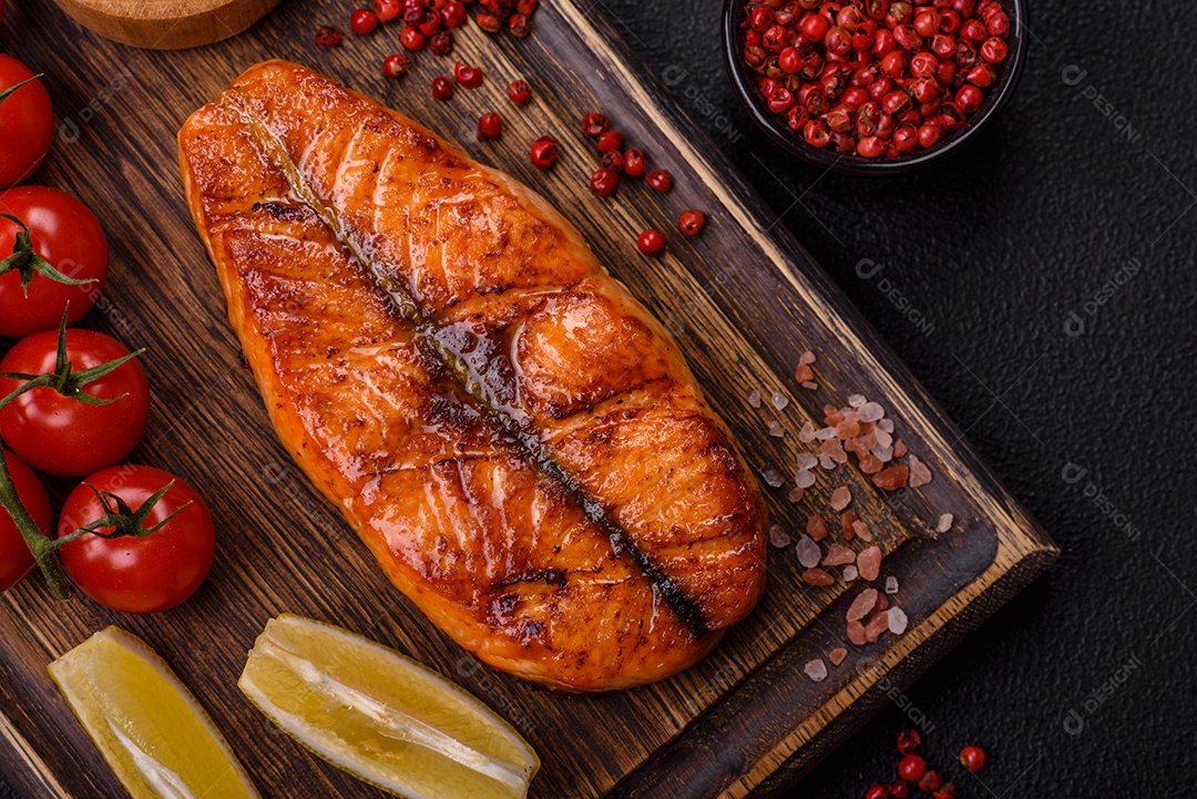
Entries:
[[1014,90],[1025,0],[728,0],[724,55],[755,122],[856,175],[917,169]]

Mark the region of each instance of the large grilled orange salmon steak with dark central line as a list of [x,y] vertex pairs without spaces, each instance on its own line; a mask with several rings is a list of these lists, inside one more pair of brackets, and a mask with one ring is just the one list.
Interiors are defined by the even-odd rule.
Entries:
[[180,148],[279,438],[461,646],[627,688],[757,604],[765,510],[731,434],[543,199],[282,61]]

